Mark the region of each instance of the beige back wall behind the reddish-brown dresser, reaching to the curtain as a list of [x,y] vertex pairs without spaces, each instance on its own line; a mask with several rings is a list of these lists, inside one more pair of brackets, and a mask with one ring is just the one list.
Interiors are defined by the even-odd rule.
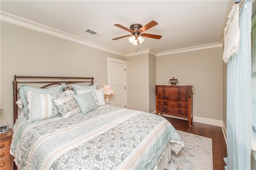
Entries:
[[223,119],[222,47],[156,57],[156,83],[194,86],[194,116]]

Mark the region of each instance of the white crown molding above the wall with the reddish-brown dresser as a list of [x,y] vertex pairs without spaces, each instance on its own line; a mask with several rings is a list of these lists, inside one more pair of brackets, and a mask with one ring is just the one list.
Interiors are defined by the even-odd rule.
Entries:
[[163,56],[163,55],[170,55],[170,54],[176,54],[176,53],[185,53],[185,52],[198,51],[198,50],[203,50],[203,49],[212,49],[212,48],[217,48],[217,47],[222,47],[222,44],[220,44],[220,43],[211,43],[211,44],[205,44],[205,45],[198,45],[198,46],[194,46],[194,47],[187,47],[187,48],[182,48],[182,49],[164,51],[164,52],[157,53],[156,56],[158,57],[158,56]]

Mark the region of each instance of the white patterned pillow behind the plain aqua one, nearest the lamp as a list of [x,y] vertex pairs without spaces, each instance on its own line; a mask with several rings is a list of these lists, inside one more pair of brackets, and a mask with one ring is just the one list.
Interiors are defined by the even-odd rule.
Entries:
[[103,92],[102,88],[100,88],[98,90],[78,90],[77,94],[84,94],[89,91],[91,92],[92,97],[94,98],[94,101],[97,104],[97,106],[106,105],[105,98],[104,98],[104,92]]

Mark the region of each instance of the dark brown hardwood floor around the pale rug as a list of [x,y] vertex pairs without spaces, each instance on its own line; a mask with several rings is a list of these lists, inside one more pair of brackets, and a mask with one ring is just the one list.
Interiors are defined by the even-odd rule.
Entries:
[[[164,117],[164,116],[163,116]],[[226,163],[223,158],[227,157],[227,147],[225,139],[222,133],[222,128],[213,125],[207,125],[203,123],[193,122],[192,127],[188,126],[188,121],[175,119],[171,117],[165,117],[176,130],[208,137],[212,139],[212,157],[213,157],[213,169],[224,170]]]

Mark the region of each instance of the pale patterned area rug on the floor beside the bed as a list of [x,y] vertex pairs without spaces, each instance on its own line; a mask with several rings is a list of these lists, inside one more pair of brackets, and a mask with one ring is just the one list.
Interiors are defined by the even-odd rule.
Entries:
[[212,139],[178,131],[184,142],[179,154],[172,152],[168,170],[212,170]]

